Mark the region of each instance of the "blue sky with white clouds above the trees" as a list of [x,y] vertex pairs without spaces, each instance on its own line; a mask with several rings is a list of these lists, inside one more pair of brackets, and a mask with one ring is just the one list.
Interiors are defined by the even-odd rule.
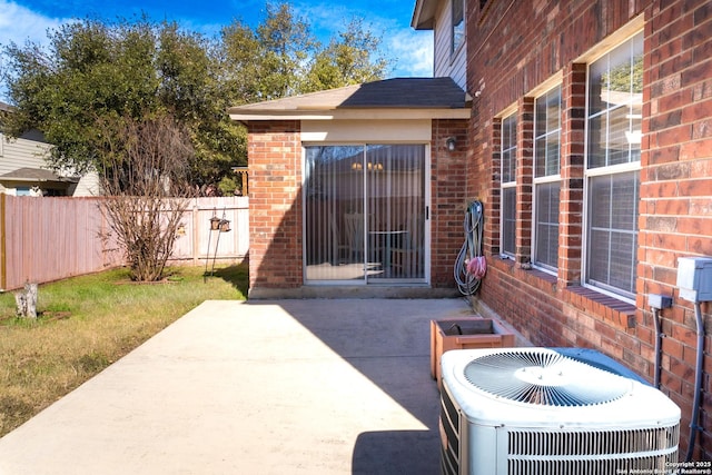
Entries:
[[[279,3],[278,0],[271,2]],[[298,16],[309,20],[324,42],[348,19],[363,18],[372,31],[383,32],[384,50],[396,61],[392,77],[432,76],[432,32],[411,28],[415,0],[294,0],[290,3]],[[264,18],[265,0],[0,0],[0,46],[10,41],[22,44],[28,39],[47,43],[48,29],[72,19],[131,19],[142,12],[154,20],[176,21],[189,30],[212,36],[236,18],[257,24]]]

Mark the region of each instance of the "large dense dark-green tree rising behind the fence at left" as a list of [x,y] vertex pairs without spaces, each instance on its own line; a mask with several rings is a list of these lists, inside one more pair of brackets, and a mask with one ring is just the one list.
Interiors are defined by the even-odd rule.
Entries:
[[[216,182],[244,155],[217,81],[215,46],[177,24],[146,19],[115,24],[83,20],[50,32],[51,46],[6,48],[10,96],[17,106],[10,135],[44,132],[56,169],[87,171],[102,165],[109,119],[142,120],[170,113],[194,144],[192,179]],[[103,119],[101,130],[97,118]]]

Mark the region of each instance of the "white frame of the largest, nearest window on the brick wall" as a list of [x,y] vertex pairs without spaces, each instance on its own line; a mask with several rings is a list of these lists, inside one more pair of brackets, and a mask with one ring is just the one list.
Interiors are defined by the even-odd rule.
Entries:
[[[602,284],[592,284],[591,279],[589,277],[589,257],[592,253],[592,244],[591,244],[591,236],[590,236],[590,226],[591,226],[591,211],[590,211],[590,205],[591,205],[591,198],[590,198],[590,192],[591,192],[591,181],[593,178],[595,177],[603,177],[603,176],[614,176],[614,175],[619,175],[619,174],[625,174],[625,172],[639,172],[639,190],[637,190],[637,198],[640,199],[640,170],[641,170],[641,162],[640,162],[640,155],[639,155],[639,159],[637,160],[633,160],[633,161],[629,161],[629,162],[624,162],[624,164],[616,164],[616,165],[604,165],[604,166],[599,166],[595,168],[590,168],[589,167],[589,159],[590,159],[590,123],[591,123],[591,119],[593,117],[595,117],[596,115],[590,115],[590,106],[591,106],[591,98],[590,98],[590,93],[591,93],[591,67],[597,62],[599,60],[602,60],[603,58],[607,58],[611,52],[613,52],[615,49],[617,49],[619,47],[631,42],[635,37],[637,37],[639,34],[642,36],[642,31],[635,31],[633,34],[629,36],[627,38],[623,39],[622,41],[617,42],[616,44],[613,44],[610,49],[605,50],[604,52],[602,52],[602,55],[600,55],[599,57],[596,57],[595,59],[592,59],[591,61],[589,61],[589,67],[587,67],[587,72],[586,72],[586,121],[585,121],[585,160],[584,160],[584,190],[583,190],[583,214],[584,214],[584,219],[583,219],[583,255],[582,255],[582,286],[587,287],[587,288],[592,288],[595,289],[599,293],[609,295],[611,297],[617,298],[620,300],[630,303],[630,304],[635,304],[635,283],[633,281],[633,291],[627,291],[625,289],[617,289],[617,288],[613,288],[612,286],[605,286]],[[641,40],[642,41],[642,40]],[[641,95],[642,96],[642,95]],[[612,108],[609,108],[606,110],[614,110]],[[597,112],[601,113],[601,112]],[[609,140],[609,137],[606,136],[606,140]],[[640,215],[640,209],[637,211],[637,214]],[[637,222],[637,216],[634,217],[635,222]],[[640,230],[637,230],[637,232],[640,232]],[[637,246],[640,247],[640,243],[637,243]],[[636,259],[636,249],[633,250],[633,257],[635,260]],[[637,266],[637,263],[633,263],[633,268],[631,269],[632,271],[635,273],[635,267]],[[636,273],[635,273],[636,274]],[[635,279],[634,279],[635,280]]]

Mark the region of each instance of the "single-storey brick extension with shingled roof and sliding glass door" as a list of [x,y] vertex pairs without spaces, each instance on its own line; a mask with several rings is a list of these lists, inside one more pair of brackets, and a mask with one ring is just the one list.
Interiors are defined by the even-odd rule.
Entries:
[[447,77],[230,109],[249,130],[249,296],[456,293],[469,113]]

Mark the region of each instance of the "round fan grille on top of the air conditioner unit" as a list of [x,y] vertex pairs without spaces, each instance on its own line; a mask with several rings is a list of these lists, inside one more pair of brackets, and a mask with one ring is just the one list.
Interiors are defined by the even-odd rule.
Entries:
[[554,350],[507,350],[473,359],[465,377],[498,397],[544,406],[591,406],[622,397],[630,382]]

